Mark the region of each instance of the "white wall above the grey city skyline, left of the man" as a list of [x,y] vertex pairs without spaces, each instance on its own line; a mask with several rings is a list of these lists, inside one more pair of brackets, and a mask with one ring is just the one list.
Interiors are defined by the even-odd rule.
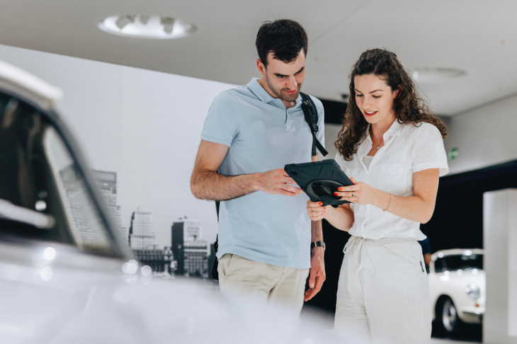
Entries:
[[208,108],[232,85],[3,45],[0,59],[62,88],[60,114],[91,165],[118,173],[125,227],[142,207],[161,246],[184,216],[215,239],[214,202],[195,200],[189,182]]

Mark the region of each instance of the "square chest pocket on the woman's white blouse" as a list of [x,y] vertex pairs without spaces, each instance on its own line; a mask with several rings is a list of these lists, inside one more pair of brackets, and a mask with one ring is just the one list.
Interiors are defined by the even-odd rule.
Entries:
[[382,164],[377,179],[380,190],[397,196],[413,195],[413,173],[405,164]]

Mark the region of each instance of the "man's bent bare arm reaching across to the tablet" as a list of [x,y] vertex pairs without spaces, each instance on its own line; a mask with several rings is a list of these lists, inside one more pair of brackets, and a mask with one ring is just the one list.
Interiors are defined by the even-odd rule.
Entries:
[[194,197],[202,200],[232,200],[259,190],[286,196],[302,193],[300,188],[289,185],[296,183],[283,168],[231,177],[217,173],[227,151],[228,147],[224,144],[201,140],[191,177]]

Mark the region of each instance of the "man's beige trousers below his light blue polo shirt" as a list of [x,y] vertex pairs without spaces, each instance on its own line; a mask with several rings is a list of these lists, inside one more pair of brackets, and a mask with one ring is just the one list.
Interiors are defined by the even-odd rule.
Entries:
[[300,314],[309,269],[258,263],[225,253],[217,267],[222,293],[250,295]]

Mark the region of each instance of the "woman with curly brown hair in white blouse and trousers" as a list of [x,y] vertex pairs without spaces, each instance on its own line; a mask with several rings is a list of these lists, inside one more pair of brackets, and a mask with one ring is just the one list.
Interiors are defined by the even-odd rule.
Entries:
[[448,172],[445,125],[416,93],[397,56],[363,52],[336,161],[353,182],[336,193],[350,204],[307,202],[312,220],[348,231],[335,327],[373,343],[428,343],[431,309],[421,223],[431,219],[438,178]]

